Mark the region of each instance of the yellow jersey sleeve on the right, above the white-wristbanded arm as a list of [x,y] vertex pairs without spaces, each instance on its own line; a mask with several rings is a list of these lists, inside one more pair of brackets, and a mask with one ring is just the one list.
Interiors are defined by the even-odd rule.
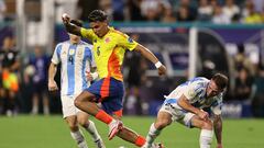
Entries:
[[118,44],[129,50],[133,50],[138,46],[138,42],[133,41],[127,34],[118,34]]

